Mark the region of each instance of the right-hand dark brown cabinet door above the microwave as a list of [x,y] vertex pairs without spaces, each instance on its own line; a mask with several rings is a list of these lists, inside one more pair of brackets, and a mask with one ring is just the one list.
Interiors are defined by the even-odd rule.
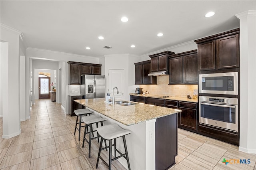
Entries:
[[239,67],[239,34],[216,40],[216,49],[218,69]]

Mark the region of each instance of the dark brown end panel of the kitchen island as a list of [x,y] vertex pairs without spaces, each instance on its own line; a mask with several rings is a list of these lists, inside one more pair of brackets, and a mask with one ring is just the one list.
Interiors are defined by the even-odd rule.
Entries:
[[175,164],[178,154],[177,113],[156,119],[156,170]]

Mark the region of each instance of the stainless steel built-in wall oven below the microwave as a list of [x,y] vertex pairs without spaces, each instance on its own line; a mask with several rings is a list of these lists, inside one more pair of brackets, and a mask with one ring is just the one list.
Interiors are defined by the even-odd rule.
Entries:
[[238,132],[238,99],[199,96],[199,123]]

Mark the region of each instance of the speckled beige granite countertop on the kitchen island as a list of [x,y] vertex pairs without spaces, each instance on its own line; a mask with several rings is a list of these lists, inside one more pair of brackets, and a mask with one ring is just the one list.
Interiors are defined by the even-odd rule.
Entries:
[[142,103],[130,106],[115,104],[113,106],[113,104],[105,103],[105,98],[78,99],[74,101],[127,126],[181,112],[178,109]]

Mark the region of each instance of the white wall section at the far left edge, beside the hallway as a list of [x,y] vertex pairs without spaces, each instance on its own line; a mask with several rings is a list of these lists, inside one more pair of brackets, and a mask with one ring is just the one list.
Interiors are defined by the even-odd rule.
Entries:
[[[1,24],[1,42],[8,42],[8,53],[1,55],[1,89],[3,136],[11,138],[20,134],[20,59],[19,35],[21,32]],[[5,47],[6,48],[6,47]]]

